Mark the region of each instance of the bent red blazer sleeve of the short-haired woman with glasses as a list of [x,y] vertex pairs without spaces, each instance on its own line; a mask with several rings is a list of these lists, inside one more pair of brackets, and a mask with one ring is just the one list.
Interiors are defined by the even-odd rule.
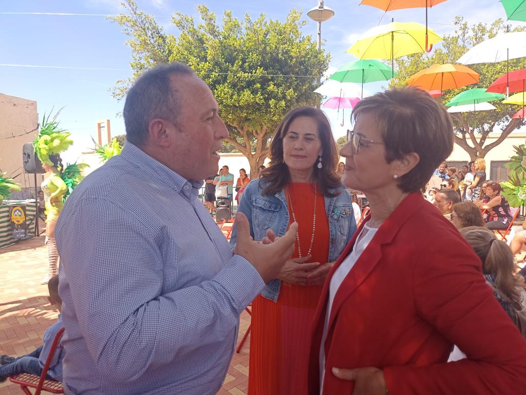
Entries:
[[417,259],[414,299],[420,315],[467,359],[384,368],[389,393],[524,393],[526,342],[493,298],[469,246],[453,239],[443,242],[451,256],[444,256],[443,248],[437,246],[425,248],[424,256]]

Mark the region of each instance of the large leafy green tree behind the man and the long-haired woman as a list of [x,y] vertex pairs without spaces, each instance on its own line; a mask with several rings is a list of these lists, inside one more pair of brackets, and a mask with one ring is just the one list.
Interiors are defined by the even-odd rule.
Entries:
[[261,14],[241,21],[225,11],[222,26],[204,5],[196,8],[202,21],[176,12],[179,35],[166,34],[155,19],[139,11],[133,0],[122,3],[126,14],[111,17],[130,37],[133,76],[119,80],[113,95],[122,99],[144,70],[160,62],[183,62],[210,86],[231,131],[228,143],[244,154],[250,176],[269,154],[269,141],[288,110],[319,104],[316,76],[328,68],[329,58],[304,36],[301,12],[292,9],[285,22]]

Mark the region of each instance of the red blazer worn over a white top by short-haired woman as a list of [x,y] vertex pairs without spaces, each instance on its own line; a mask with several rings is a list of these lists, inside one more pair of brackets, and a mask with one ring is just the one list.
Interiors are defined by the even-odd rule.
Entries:
[[[369,217],[366,219],[366,221]],[[313,321],[309,394],[332,274]],[[446,363],[453,344],[468,356]],[[442,214],[410,194],[381,225],[336,293],[325,341],[323,395],[352,393],[333,367],[383,369],[390,395],[526,394],[526,341],[485,284],[480,259]]]

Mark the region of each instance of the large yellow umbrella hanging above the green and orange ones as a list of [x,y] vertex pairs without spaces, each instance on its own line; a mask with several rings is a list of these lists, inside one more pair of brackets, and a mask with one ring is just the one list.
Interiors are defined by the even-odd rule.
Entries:
[[[416,22],[391,22],[367,31],[360,40],[347,49],[359,59],[393,59],[426,52],[426,26]],[[428,29],[428,44],[442,41],[436,32]]]

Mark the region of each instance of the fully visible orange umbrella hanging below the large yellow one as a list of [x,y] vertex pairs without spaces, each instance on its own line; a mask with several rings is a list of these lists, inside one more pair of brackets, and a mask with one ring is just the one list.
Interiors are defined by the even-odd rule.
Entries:
[[426,90],[457,89],[476,84],[480,75],[463,65],[434,65],[420,70],[407,80],[407,85],[418,86]]

